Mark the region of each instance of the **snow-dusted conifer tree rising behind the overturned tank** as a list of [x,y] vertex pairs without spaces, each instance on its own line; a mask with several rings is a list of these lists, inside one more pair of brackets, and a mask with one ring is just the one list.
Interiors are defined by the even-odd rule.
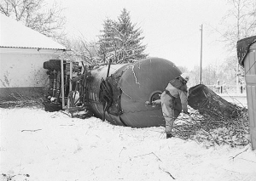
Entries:
[[105,20],[100,37],[100,52],[102,59],[112,59],[115,63],[134,62],[144,59],[146,46],[142,45],[143,31],[131,23],[130,14],[124,8],[118,21]]

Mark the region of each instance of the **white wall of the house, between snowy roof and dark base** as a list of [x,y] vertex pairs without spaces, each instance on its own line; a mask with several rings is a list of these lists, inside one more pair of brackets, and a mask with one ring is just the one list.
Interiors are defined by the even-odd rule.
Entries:
[[0,48],[0,88],[44,87],[48,78],[44,61],[59,59],[61,53],[51,49]]

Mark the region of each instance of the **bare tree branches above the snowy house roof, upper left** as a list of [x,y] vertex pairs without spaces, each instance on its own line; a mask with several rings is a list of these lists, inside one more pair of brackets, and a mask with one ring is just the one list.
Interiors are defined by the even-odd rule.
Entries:
[[61,16],[63,8],[54,3],[45,8],[44,0],[1,0],[0,12],[22,21],[27,27],[47,37],[59,38],[64,35],[65,17]]

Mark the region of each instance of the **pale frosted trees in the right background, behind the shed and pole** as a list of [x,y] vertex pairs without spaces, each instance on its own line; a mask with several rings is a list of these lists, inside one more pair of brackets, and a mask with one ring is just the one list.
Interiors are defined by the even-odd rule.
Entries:
[[[245,85],[244,70],[238,66],[236,56],[236,42],[245,37],[256,35],[256,1],[255,0],[227,0],[230,9],[215,31],[219,34],[219,41],[226,43],[226,50],[230,56],[221,63],[212,63],[202,68],[202,82],[206,85],[224,83],[227,85]],[[184,70],[184,68],[182,67]],[[187,69],[188,71],[188,69]],[[198,84],[200,67],[189,71],[190,85]],[[236,79],[236,77],[238,79]]]

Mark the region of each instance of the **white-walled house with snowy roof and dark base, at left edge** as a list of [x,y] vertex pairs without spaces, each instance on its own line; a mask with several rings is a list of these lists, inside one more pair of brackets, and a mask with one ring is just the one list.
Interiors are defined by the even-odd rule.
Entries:
[[38,96],[49,82],[44,61],[60,59],[66,48],[0,15],[0,100],[13,98],[15,94]]

